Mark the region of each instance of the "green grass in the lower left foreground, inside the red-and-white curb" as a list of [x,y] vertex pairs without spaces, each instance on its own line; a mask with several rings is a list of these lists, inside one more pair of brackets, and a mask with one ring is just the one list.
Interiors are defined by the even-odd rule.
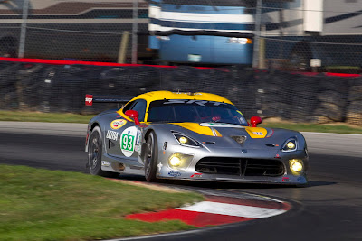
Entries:
[[0,165],[0,240],[95,240],[192,229],[125,215],[202,200],[77,172]]

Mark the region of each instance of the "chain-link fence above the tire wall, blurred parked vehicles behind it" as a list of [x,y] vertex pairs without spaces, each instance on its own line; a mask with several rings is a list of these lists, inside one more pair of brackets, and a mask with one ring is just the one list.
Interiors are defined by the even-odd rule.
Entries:
[[360,73],[355,0],[2,0],[0,56]]

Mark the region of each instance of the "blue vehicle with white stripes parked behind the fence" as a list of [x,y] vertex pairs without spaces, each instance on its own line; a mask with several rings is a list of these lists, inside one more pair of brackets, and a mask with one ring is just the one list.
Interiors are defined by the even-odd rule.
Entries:
[[[149,37],[148,47],[158,50],[160,60],[252,64],[254,16],[250,5],[235,0],[215,5],[203,0],[155,2],[149,7],[148,30],[156,36]],[[172,31],[182,33],[162,36]],[[246,37],[235,37],[238,34]]]

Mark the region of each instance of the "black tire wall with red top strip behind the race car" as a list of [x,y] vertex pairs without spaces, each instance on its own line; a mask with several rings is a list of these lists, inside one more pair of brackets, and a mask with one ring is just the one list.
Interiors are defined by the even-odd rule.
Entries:
[[362,125],[359,75],[0,58],[0,109],[99,113],[117,106],[84,107],[86,93],[134,97],[160,89],[219,94],[248,118]]

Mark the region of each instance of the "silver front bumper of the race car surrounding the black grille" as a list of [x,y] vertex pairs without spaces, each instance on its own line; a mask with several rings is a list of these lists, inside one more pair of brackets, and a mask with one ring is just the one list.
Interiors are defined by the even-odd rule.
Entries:
[[[157,178],[159,179],[176,179],[190,181],[225,181],[225,182],[248,182],[248,183],[273,183],[273,184],[307,184],[307,170],[309,165],[308,154],[304,150],[290,153],[281,152],[280,148],[249,149],[241,148],[190,148],[180,145],[168,145],[167,150],[159,150],[157,163]],[[169,163],[169,157],[174,153],[185,153],[193,155],[185,170],[172,168]],[[241,171],[234,173],[222,173],[225,171],[214,171],[207,173],[197,168],[197,163],[205,158],[212,157],[215,160],[232,159],[240,160]],[[299,159],[303,162],[304,170],[298,173],[291,171],[290,160]],[[279,162],[282,171],[278,173],[247,173],[243,167],[246,160],[257,160],[258,163],[265,161],[265,165],[270,162]]]

